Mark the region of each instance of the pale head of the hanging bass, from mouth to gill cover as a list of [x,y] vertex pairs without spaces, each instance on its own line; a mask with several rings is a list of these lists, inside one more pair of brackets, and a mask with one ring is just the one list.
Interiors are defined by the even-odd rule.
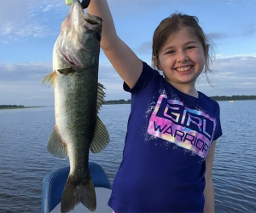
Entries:
[[63,24],[63,32],[57,49],[66,64],[76,68],[88,68],[90,60],[86,60],[84,52],[93,49],[93,39],[98,42],[102,38],[102,18],[85,13],[79,0],[73,0],[72,7]]

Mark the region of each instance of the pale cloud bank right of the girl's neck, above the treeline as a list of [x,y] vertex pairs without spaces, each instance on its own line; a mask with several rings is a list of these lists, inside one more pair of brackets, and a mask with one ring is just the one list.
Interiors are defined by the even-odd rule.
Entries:
[[[207,95],[255,95],[256,57],[247,55],[222,55],[214,61],[216,72],[209,74],[213,89],[205,78],[198,80],[198,89]],[[205,84],[206,83],[206,84]]]

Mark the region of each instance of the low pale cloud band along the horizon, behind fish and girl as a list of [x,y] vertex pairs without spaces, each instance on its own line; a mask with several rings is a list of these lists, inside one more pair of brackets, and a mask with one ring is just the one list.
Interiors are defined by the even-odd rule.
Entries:
[[[244,60],[246,59],[246,60]],[[150,65],[149,61],[148,65]],[[255,95],[256,57],[230,55],[218,58],[218,70],[207,79],[202,75],[197,88],[207,95]],[[54,90],[41,82],[52,72],[52,63],[38,61],[20,64],[0,64],[0,104],[53,105]],[[108,60],[101,61],[99,82],[106,88],[106,100],[130,99],[123,91],[123,81]]]

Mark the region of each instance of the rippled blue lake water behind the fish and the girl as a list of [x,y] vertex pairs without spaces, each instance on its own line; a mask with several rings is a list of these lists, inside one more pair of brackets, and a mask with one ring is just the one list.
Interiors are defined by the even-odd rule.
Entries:
[[[256,212],[256,101],[219,101],[224,135],[218,140],[212,179],[217,213]],[[119,168],[130,105],[103,106],[100,113],[111,138],[90,160],[101,164],[110,181]],[[68,159],[46,150],[55,124],[54,107],[0,111],[0,212],[41,211],[41,188],[50,171]]]

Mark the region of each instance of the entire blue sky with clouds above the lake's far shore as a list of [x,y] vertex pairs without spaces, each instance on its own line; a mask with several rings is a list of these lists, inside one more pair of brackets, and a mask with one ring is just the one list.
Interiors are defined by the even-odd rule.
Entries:
[[[195,15],[215,44],[214,73],[202,75],[206,95],[256,95],[255,0],[108,0],[119,37],[150,65],[151,41],[160,20],[172,13]],[[5,1],[0,8],[0,105],[54,105],[54,91],[40,83],[52,72],[52,51],[65,0]],[[101,52],[99,81],[106,100],[129,99],[122,80]]]

